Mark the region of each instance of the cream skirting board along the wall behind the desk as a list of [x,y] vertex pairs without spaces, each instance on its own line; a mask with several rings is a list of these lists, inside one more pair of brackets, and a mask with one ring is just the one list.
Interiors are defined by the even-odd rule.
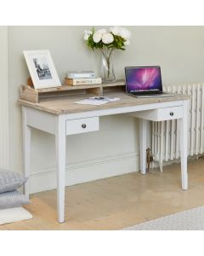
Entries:
[[[116,154],[71,163],[65,168],[67,186],[139,171],[139,153]],[[41,170],[30,177],[31,193],[56,188],[56,168]]]

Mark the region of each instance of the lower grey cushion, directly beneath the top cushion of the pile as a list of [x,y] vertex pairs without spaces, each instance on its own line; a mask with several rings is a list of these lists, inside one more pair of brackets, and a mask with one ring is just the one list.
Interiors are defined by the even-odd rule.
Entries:
[[29,203],[30,201],[27,196],[17,190],[0,194],[0,210],[12,207],[21,207]]

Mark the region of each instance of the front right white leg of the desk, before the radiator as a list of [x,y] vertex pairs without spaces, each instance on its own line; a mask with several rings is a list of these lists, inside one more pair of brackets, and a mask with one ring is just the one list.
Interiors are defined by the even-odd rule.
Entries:
[[180,125],[180,158],[181,158],[181,181],[182,189],[188,189],[188,102],[184,101],[184,117],[179,119]]

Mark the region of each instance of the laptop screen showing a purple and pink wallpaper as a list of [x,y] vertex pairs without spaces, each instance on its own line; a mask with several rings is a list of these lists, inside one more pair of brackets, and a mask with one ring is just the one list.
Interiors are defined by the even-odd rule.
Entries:
[[127,67],[127,92],[162,91],[160,67]]

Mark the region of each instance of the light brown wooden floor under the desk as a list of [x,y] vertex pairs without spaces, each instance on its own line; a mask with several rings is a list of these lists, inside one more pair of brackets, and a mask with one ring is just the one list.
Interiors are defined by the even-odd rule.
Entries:
[[189,162],[189,190],[182,190],[180,166],[105,178],[67,187],[65,223],[57,223],[56,190],[31,195],[30,220],[0,230],[121,230],[150,219],[204,205],[204,159]]

